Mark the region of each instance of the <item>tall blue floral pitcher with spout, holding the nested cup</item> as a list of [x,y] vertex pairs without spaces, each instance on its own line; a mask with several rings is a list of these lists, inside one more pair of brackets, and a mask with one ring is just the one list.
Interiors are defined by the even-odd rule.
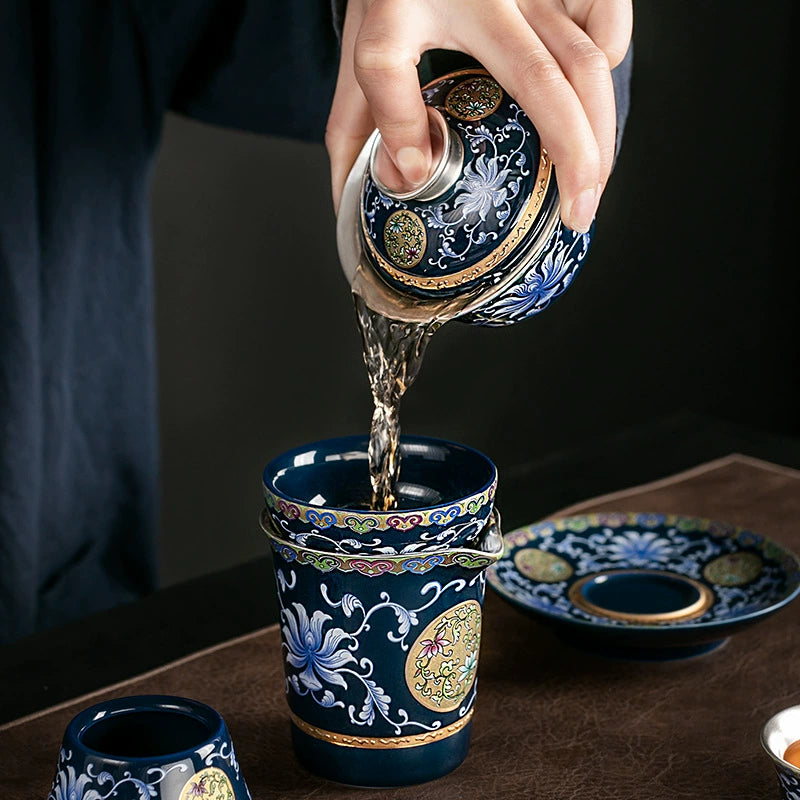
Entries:
[[485,570],[497,512],[475,548],[352,555],[281,539],[274,554],[292,742],[312,772],[356,786],[438,778],[466,757]]

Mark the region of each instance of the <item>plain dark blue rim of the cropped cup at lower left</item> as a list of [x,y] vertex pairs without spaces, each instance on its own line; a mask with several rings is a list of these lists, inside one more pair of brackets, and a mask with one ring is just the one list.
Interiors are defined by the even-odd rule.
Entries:
[[[201,742],[192,747],[174,750],[169,753],[159,753],[151,756],[125,756],[104,753],[87,746],[82,741],[82,736],[95,723],[109,719],[111,716],[135,714],[143,711],[163,712],[169,714],[183,714],[198,720],[208,727],[209,734]],[[100,715],[100,716],[98,716]],[[64,746],[73,752],[84,753],[102,759],[108,764],[153,764],[166,763],[179,758],[187,757],[198,748],[208,744],[214,739],[227,740],[227,727],[218,711],[211,706],[189,697],[178,695],[129,695],[103,700],[78,712],[68,723],[64,733]]]

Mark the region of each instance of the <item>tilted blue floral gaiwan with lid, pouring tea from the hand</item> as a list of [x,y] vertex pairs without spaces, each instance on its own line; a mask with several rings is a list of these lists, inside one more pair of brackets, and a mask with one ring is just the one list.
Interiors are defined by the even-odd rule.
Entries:
[[353,290],[384,316],[502,326],[547,308],[577,274],[593,232],[560,219],[555,171],[530,119],[479,66],[422,88],[442,156],[394,192],[375,170],[380,134],[348,177],[337,223]]

